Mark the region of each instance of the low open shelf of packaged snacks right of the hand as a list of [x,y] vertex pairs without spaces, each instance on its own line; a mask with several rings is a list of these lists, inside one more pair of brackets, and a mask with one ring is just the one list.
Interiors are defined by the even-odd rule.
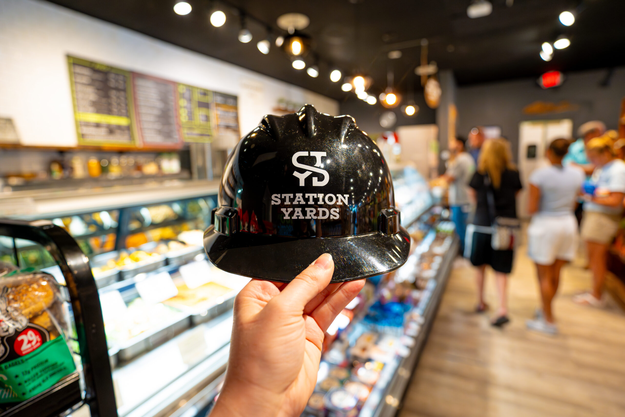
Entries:
[[328,330],[317,386],[302,417],[395,415],[459,245],[440,212],[435,207],[420,216],[409,229],[417,244],[406,264],[377,277],[375,296],[368,300],[367,295],[362,298],[366,286],[359,295],[367,300],[361,301],[361,311],[348,306],[341,313],[345,317],[333,323],[344,322],[338,323],[338,331]]

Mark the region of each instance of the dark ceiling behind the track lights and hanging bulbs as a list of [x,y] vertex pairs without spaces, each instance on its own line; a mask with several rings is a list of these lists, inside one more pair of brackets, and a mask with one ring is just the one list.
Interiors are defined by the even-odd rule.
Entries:
[[[344,74],[361,71],[374,79],[372,93],[386,88],[387,71],[394,71],[396,87],[406,90],[419,63],[420,39],[429,41],[429,60],[452,69],[459,84],[537,76],[549,69],[574,71],[625,64],[624,0],[491,0],[490,16],[469,19],[470,0],[228,0],[214,4],[187,0],[193,11],[178,16],[175,0],[53,0],[111,23],[197,51],[262,74],[296,84],[331,98],[344,100],[341,83],[329,80],[331,66]],[[351,3],[353,2],[353,3]],[[354,4],[355,3],[355,4]],[[507,4],[510,4],[508,0]],[[219,6],[227,16],[221,28],[208,21],[209,10]],[[234,6],[234,7],[232,7]],[[283,13],[304,13],[319,56],[321,74],[314,79],[291,67],[289,59],[272,44],[268,55],[256,49],[266,38],[266,26],[250,21],[250,43],[237,41],[237,8],[271,25]],[[571,27],[558,21],[561,11],[576,11]],[[541,44],[560,34],[571,46],[555,52],[552,61],[539,57]],[[405,48],[402,48],[405,47]],[[401,49],[402,58],[387,52]],[[307,58],[310,58],[307,57]]]

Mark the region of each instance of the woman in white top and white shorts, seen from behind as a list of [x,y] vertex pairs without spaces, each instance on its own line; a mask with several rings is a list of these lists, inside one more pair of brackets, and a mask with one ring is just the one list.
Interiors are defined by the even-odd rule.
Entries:
[[527,252],[536,263],[542,311],[527,328],[557,334],[551,301],[557,292],[560,269],[575,257],[577,220],[573,214],[577,195],[584,183],[584,171],[577,166],[562,166],[569,148],[567,139],[551,142],[546,156],[550,166],[537,169],[529,177],[529,214]]

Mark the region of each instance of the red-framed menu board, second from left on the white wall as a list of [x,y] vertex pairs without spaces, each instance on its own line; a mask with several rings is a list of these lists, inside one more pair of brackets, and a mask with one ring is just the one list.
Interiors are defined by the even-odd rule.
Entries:
[[143,146],[180,148],[183,144],[178,107],[178,84],[133,73],[134,110],[138,137]]

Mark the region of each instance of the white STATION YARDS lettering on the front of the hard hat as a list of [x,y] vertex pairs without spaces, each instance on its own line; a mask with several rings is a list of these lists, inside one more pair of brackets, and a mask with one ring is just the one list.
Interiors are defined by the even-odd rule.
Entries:
[[[295,198],[293,199],[293,196]],[[297,206],[299,204],[337,204],[337,206],[341,206],[342,204],[347,204],[347,198],[349,194],[272,194],[271,196],[271,204],[279,205],[284,204],[288,206],[293,204]],[[304,198],[307,201],[304,201]],[[306,215],[302,213],[301,208],[283,208],[281,209],[282,213],[284,213],[284,219],[327,219],[328,217],[331,219],[339,218],[339,209],[332,208],[314,208],[307,207],[304,208],[306,211]],[[292,216],[291,216],[291,211]]]

